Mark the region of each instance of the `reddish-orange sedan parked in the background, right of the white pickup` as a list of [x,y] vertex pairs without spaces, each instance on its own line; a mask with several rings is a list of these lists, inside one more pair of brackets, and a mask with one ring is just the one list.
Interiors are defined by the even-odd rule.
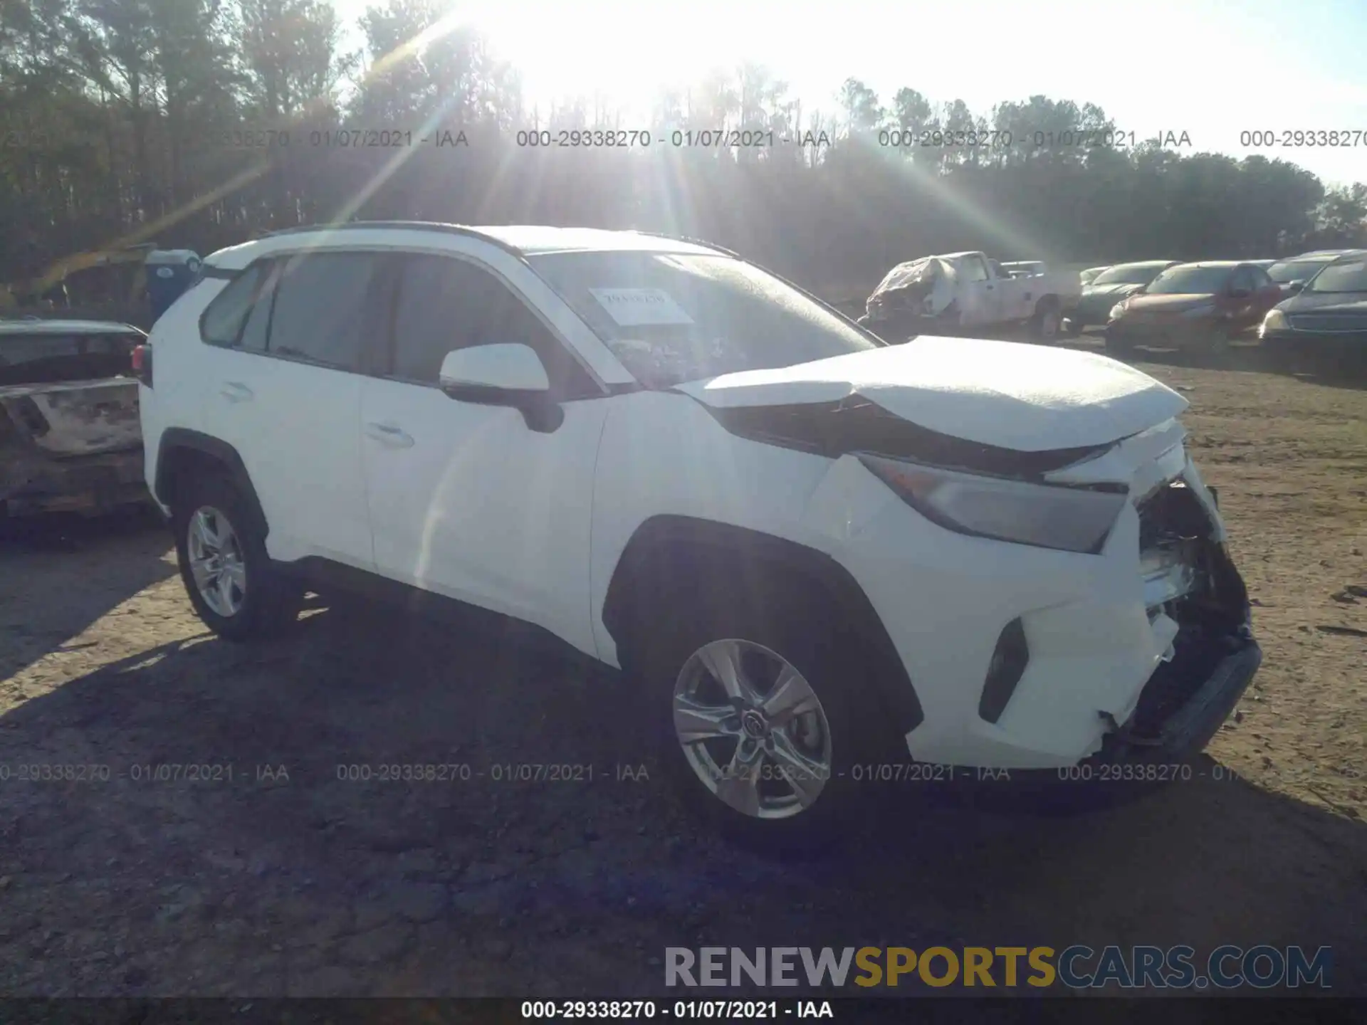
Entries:
[[1280,301],[1277,283],[1252,264],[1178,264],[1143,292],[1115,303],[1106,324],[1106,348],[1128,353],[1144,343],[1219,353]]

